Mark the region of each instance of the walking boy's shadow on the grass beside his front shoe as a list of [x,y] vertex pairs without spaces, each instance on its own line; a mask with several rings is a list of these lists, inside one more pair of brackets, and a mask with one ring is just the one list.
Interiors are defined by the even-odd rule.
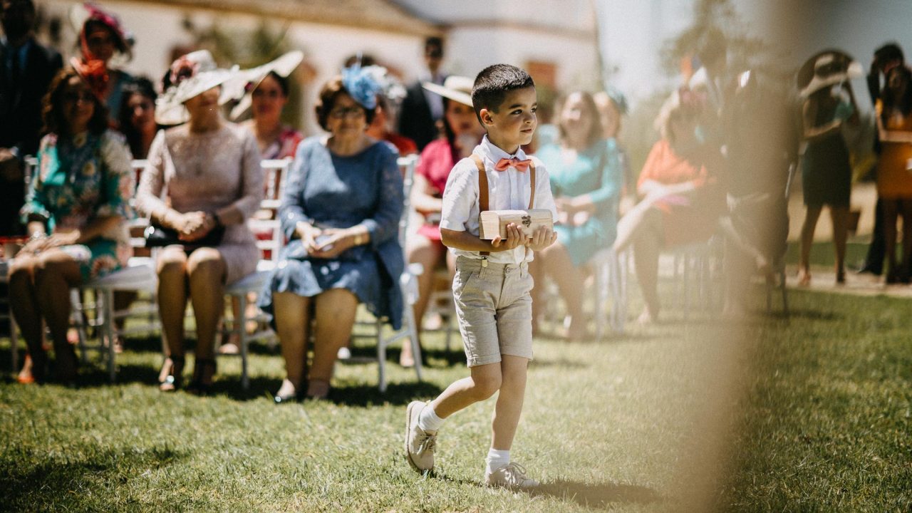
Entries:
[[572,500],[587,508],[607,508],[614,503],[648,504],[662,499],[652,488],[602,483],[597,485],[557,480],[526,491],[532,497]]

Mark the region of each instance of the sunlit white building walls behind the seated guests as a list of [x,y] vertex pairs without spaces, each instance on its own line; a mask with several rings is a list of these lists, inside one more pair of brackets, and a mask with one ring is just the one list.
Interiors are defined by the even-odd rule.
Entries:
[[[62,34],[67,58],[75,52],[76,31],[68,23],[71,0],[38,0],[50,15],[67,20]],[[404,5],[409,2],[400,2]],[[524,2],[501,0],[483,2],[412,2],[420,4],[413,12],[432,20],[455,24],[447,34],[448,47],[444,68],[451,73],[473,77],[482,68],[498,62],[523,66],[530,60],[552,62],[557,68],[561,89],[590,89],[597,79],[595,40],[581,37],[593,25],[591,5],[587,1]],[[245,14],[213,13],[204,10],[182,10],[130,0],[104,0],[104,8],[117,14],[136,37],[133,60],[124,68],[135,75],[158,81],[171,64],[171,47],[192,43],[192,36],[182,28],[191,13],[196,26],[209,26],[217,20],[220,26],[254,28],[259,18]],[[407,5],[409,6],[409,5]],[[488,8],[485,9],[485,6]],[[410,6],[409,6],[410,7]],[[530,19],[529,16],[533,16]],[[485,17],[491,24],[483,23]],[[537,28],[523,28],[525,22]],[[497,24],[503,23],[503,26]],[[276,28],[282,21],[275,20]],[[543,28],[544,27],[544,28]],[[563,31],[562,28],[563,27]],[[305,89],[303,108],[305,130],[318,131],[312,114],[319,87],[337,73],[345,58],[364,51],[398,69],[404,79],[420,75],[423,68],[421,37],[390,32],[295,22],[288,31],[293,46],[305,52],[307,62],[316,68],[316,80]]]

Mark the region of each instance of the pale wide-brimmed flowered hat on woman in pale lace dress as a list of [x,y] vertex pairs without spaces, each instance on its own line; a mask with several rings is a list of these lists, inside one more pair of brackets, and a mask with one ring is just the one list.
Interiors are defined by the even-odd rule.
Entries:
[[[171,64],[166,77],[166,88],[155,100],[155,122],[161,125],[179,125],[190,120],[190,112],[183,106],[188,99],[201,95],[209,89],[221,86],[237,74],[238,67],[219,68],[209,50],[197,50],[181,56]],[[224,92],[219,104],[229,97]]]

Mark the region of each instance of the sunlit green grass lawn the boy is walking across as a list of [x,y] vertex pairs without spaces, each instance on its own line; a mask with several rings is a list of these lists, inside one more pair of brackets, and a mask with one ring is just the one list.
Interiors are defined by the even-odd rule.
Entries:
[[[221,360],[201,398],[159,393],[159,340],[129,340],[115,385],[100,366],[77,389],[6,374],[0,509],[661,511],[703,491],[731,511],[909,511],[909,304],[791,298],[791,319],[669,309],[622,337],[535,340],[513,446],[544,482],[534,493],[479,485],[492,400],[444,425],[435,475],[405,462],[405,405],[467,373],[440,335],[424,382],[390,351],[385,395],[376,364],[340,365],[332,401],[282,406],[269,398],[282,361],[264,347],[249,392],[240,361]],[[5,371],[8,349],[0,340]]]

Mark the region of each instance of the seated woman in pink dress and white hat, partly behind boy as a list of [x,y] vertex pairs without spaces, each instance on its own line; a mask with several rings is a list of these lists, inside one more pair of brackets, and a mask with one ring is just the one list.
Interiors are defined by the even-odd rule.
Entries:
[[[472,149],[484,135],[484,129],[472,109],[472,79],[449,77],[442,86],[432,82],[425,88],[443,97],[444,137],[431,141],[421,152],[411,188],[411,204],[422,216],[418,230],[409,234],[406,254],[409,263],[419,263],[424,272],[418,277],[420,296],[414,306],[415,320],[421,325],[428,308],[434,283],[434,267],[447,254],[440,242],[440,210],[443,207],[443,187],[456,162],[472,154]],[[452,274],[453,262],[448,262]],[[405,367],[415,364],[411,346],[403,344],[399,363]]]

